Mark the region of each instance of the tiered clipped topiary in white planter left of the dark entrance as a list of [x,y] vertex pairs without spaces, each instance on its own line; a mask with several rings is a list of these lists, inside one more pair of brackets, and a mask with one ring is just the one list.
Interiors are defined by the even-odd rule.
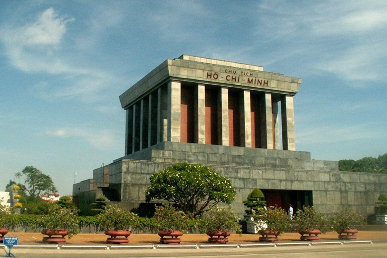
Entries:
[[256,188],[247,196],[247,199],[243,201],[244,205],[249,208],[245,210],[246,215],[244,215],[247,233],[257,234],[260,229],[267,227],[261,220],[254,220],[254,217],[252,216],[253,211],[266,208],[266,201],[264,198],[265,196],[262,191]]

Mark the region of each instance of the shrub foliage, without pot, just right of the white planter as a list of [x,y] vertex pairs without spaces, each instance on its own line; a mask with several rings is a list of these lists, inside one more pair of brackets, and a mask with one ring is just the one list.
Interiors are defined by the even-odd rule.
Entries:
[[269,206],[267,210],[263,208],[253,210],[253,218],[255,221],[263,221],[267,229],[278,231],[280,234],[290,226],[288,214],[278,207]]

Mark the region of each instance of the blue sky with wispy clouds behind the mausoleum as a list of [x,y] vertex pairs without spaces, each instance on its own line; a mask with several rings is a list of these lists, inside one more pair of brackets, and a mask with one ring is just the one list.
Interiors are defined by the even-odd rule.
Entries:
[[[302,78],[296,148],[387,152],[387,1],[0,1],[0,191],[34,166],[61,195],[124,155],[119,95],[182,54]],[[17,180],[16,180],[17,181]]]

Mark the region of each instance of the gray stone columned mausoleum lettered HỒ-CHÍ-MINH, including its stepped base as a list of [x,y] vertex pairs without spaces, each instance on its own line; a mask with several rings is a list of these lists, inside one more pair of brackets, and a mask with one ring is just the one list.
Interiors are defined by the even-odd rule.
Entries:
[[300,78],[261,66],[183,55],[166,60],[120,96],[125,156],[73,185],[81,209],[99,196],[128,208],[145,202],[152,173],[200,163],[231,179],[240,216],[255,188],[268,205],[350,205],[374,213],[387,175],[338,172],[337,161],[296,151],[294,95]]

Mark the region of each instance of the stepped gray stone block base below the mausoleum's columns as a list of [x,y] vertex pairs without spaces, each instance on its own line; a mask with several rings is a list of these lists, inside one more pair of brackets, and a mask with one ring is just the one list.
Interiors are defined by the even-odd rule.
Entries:
[[242,201],[255,188],[309,191],[309,204],[324,214],[350,205],[365,216],[374,213],[379,194],[387,192],[387,175],[338,172],[336,161],[313,160],[309,152],[162,142],[94,170],[92,182],[75,184],[73,194],[94,193],[95,198],[106,188],[114,193],[110,196],[120,196],[113,201],[133,208],[144,202],[151,174],[176,162],[204,164],[230,178],[237,191],[233,206],[241,217]]

